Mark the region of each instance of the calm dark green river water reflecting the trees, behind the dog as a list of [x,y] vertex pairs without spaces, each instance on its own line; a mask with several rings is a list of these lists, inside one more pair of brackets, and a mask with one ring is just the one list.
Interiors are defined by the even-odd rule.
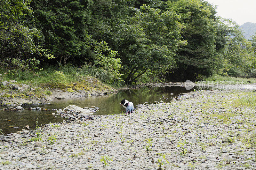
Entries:
[[[193,89],[192,89],[193,90]],[[191,90],[190,90],[191,91]],[[47,109],[63,109],[69,105],[76,105],[79,107],[99,107],[99,111],[95,115],[120,114],[125,111],[124,107],[120,107],[121,100],[126,99],[133,102],[134,107],[139,103],[153,103],[155,101],[163,100],[169,102],[173,98],[178,97],[181,93],[190,92],[185,87],[166,86],[166,87],[141,87],[139,89],[119,91],[116,94],[104,96],[90,96],[79,97],[76,99],[53,100],[49,104],[40,105],[38,107]],[[173,93],[173,94],[172,94]],[[159,99],[161,98],[161,99]],[[168,99],[163,99],[168,98]],[[24,106],[29,108],[31,106]],[[32,106],[36,107],[36,106]],[[2,109],[4,107],[0,107]],[[39,125],[47,124],[49,122],[62,122],[65,120],[59,115],[52,115],[55,111],[44,110],[0,110],[0,129],[6,135],[8,133],[15,133],[24,129],[26,125],[30,128],[35,128],[36,121]]]

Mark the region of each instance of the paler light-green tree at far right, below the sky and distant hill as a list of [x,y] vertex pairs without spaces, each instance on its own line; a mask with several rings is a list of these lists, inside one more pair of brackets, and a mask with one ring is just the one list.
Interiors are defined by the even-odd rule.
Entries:
[[[252,68],[252,43],[248,41],[236,22],[230,19],[219,20],[217,42],[219,64],[217,74],[232,77],[247,77]],[[220,45],[222,44],[222,45]]]

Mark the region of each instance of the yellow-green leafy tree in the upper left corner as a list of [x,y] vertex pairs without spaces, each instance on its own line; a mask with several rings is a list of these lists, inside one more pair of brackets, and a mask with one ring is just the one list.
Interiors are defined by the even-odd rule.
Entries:
[[26,26],[26,16],[33,19],[28,0],[0,0],[0,60],[28,59],[39,53],[39,31]]

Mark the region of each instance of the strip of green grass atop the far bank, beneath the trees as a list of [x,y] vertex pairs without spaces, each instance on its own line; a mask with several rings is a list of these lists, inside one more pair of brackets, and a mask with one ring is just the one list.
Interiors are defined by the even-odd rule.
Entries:
[[42,70],[9,70],[3,74],[5,70],[1,70],[0,78],[2,81],[16,80],[18,83],[25,83],[28,85],[38,86],[42,84],[66,85],[74,82],[86,81],[86,77],[91,76],[99,79],[105,84],[112,84],[112,75],[103,69],[97,67],[82,67],[76,68],[72,65],[66,65],[61,68],[53,66],[45,67]]

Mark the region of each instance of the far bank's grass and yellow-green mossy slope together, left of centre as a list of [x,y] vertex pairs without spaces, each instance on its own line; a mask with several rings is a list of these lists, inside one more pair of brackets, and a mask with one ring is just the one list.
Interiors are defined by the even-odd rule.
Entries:
[[[9,85],[0,85],[0,96],[2,98],[42,98],[44,95],[51,95],[51,90],[58,88],[63,91],[74,92],[79,90],[85,91],[103,91],[114,88],[110,85],[113,81],[112,75],[103,69],[96,67],[75,68],[67,65],[62,68],[54,68],[52,66],[38,71],[31,70],[1,70],[0,82],[15,80],[12,84],[20,87],[23,84],[29,85],[30,88],[25,91],[12,90]],[[9,82],[10,83],[10,82]],[[112,83],[113,85],[116,85]]]

